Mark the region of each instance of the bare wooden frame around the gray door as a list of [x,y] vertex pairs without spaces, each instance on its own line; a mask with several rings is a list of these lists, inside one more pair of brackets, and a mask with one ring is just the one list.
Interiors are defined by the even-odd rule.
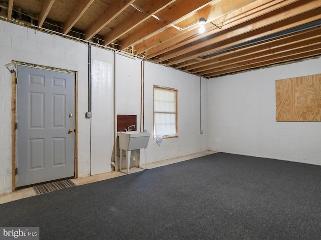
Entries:
[[[71,71],[61,68],[54,68],[49,66],[43,66],[43,65],[36,65],[26,62],[19,62],[19,61],[12,61],[15,65],[23,65],[23,66],[30,66],[35,68],[40,68],[44,70],[54,70],[54,71],[61,71],[61,72],[67,72],[75,74],[75,88],[74,88],[74,109],[75,109],[75,118],[74,118],[74,166],[75,166],[75,178],[78,178],[78,119],[77,119],[77,113],[78,113],[78,92],[77,92],[77,80],[78,80],[78,74],[77,71]],[[16,67],[17,68],[17,67]],[[17,122],[17,73],[11,74],[11,190],[15,191],[17,189],[17,135],[16,135],[16,122]]]

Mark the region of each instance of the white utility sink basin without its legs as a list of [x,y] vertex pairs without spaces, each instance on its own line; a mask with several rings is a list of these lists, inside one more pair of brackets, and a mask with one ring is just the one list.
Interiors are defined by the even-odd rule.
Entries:
[[147,148],[150,138],[150,132],[117,132],[117,136],[119,137],[119,148],[126,151],[130,151]]

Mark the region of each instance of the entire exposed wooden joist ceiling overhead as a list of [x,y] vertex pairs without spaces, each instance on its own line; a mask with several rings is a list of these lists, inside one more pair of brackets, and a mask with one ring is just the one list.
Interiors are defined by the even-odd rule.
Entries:
[[321,56],[321,0],[5,0],[0,9],[15,24],[96,36],[97,46],[205,78]]

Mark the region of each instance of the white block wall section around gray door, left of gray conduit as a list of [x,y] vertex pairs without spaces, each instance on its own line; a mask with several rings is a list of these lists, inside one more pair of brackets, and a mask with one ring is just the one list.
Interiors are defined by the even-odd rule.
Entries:
[[78,173],[90,175],[90,119],[84,117],[88,111],[85,43],[5,21],[0,21],[0,39],[0,193],[11,191],[11,74],[4,65],[12,60],[77,71]]

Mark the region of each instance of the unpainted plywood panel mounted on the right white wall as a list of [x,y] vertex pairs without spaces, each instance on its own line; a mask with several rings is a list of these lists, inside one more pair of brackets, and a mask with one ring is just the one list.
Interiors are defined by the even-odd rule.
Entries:
[[321,121],[321,74],[275,81],[276,121]]

